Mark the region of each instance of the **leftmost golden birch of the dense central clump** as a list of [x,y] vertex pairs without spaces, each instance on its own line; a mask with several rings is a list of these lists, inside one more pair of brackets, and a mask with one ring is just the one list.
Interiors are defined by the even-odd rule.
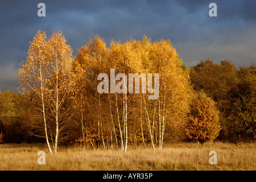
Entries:
[[[95,116],[91,123],[95,123],[97,125],[97,135],[98,135],[98,146],[99,142],[103,144],[103,148],[105,146],[105,129],[103,114],[102,114],[102,96],[97,92],[97,76],[101,72],[105,72],[105,60],[106,60],[107,48],[106,43],[103,39],[99,38],[99,36],[91,36],[87,45],[81,47],[79,49],[78,55],[74,60],[74,64],[76,64],[76,69],[80,70],[79,80],[81,82],[77,82],[77,86],[82,88],[82,96],[85,98],[89,98],[93,105],[87,105],[90,107],[91,113]],[[84,80],[84,81],[83,81]],[[81,97],[81,96],[78,96]],[[108,100],[107,100],[108,101]],[[95,125],[93,124],[93,127]]]

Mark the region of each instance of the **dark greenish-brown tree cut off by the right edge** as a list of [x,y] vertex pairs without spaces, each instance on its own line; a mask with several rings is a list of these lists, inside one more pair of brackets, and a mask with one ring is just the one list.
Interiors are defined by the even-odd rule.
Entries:
[[256,67],[241,67],[238,71],[239,91],[227,118],[231,137],[256,138]]

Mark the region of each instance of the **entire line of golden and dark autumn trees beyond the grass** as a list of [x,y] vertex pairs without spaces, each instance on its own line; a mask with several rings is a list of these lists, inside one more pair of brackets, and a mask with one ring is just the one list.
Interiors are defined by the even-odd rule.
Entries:
[[[110,78],[111,69],[115,75],[150,73],[153,82],[158,73],[159,97],[149,100],[152,94],[142,92],[142,77],[139,93],[128,92],[134,86],[99,93],[98,75]],[[94,35],[73,57],[61,31],[47,38],[39,30],[18,79],[19,94],[0,95],[3,142],[46,142],[56,154],[59,143],[122,151],[142,144],[161,150],[169,140],[234,142],[256,136],[256,66],[238,69],[228,60],[219,65],[208,59],[187,68],[170,40],[151,42],[143,36],[125,43],[112,40],[107,47]],[[119,80],[120,89],[129,85]]]

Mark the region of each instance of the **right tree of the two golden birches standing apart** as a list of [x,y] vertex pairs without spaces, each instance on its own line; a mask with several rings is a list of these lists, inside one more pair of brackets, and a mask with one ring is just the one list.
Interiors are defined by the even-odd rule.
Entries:
[[72,115],[70,106],[65,107],[64,105],[75,79],[71,73],[73,51],[66,42],[67,40],[60,31],[54,32],[47,42],[49,49],[47,59],[50,62],[50,69],[47,70],[50,75],[50,94],[48,94],[47,99],[49,100],[50,113],[55,122],[54,154],[57,154],[59,134]]

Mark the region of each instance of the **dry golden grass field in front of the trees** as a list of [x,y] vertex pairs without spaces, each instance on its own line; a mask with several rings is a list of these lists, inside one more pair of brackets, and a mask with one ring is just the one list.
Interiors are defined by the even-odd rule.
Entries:
[[[46,152],[45,165],[37,163],[38,151]],[[217,152],[215,165],[210,151]],[[1,144],[0,170],[256,170],[256,143],[170,143],[127,152],[61,146],[57,155],[45,144]]]

